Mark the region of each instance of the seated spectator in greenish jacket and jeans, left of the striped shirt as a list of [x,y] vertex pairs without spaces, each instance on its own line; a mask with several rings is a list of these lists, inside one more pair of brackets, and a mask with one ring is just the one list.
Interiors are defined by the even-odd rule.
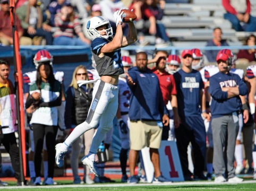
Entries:
[[47,45],[53,45],[52,27],[43,22],[42,10],[37,0],[28,0],[16,10],[21,20],[24,36],[30,38],[43,37]]

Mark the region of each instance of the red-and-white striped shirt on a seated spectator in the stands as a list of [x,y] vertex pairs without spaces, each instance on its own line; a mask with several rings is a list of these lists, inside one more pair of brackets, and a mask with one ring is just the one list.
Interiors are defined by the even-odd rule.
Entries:
[[63,21],[61,19],[61,13],[57,13],[55,15],[54,23],[56,27],[56,31],[53,34],[54,38],[61,37],[61,36],[73,38],[74,32],[76,34],[78,34],[79,32],[82,32],[80,20],[76,15],[74,16],[74,21],[69,21],[69,20]]

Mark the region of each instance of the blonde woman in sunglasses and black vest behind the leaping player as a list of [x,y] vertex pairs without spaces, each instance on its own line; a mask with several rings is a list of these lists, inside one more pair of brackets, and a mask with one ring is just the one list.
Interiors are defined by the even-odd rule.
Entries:
[[[72,82],[66,91],[66,107],[65,107],[65,126],[67,131],[72,132],[72,128],[83,123],[86,120],[89,107],[92,100],[92,84],[78,86],[78,80],[88,80],[88,73],[86,67],[77,66],[73,72]],[[81,184],[81,179],[78,175],[78,158],[81,152],[83,136],[85,144],[85,154],[88,154],[91,141],[94,134],[94,129],[90,129],[84,135],[81,135],[72,144],[72,153],[70,157],[70,164],[73,171],[73,184]],[[86,168],[84,179],[87,184],[92,184],[93,181],[89,177],[89,168]]]

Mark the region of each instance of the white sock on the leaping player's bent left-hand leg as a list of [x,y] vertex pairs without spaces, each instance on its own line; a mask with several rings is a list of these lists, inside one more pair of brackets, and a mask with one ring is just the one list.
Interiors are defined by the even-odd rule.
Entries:
[[83,133],[87,132],[91,128],[92,127],[86,121],[76,126],[72,133],[66,138],[65,142],[61,144],[61,151],[66,152],[67,147],[69,147],[77,138],[79,138]]

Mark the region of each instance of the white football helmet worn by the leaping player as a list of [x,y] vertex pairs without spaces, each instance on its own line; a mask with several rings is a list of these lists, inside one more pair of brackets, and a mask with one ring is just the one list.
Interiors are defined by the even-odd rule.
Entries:
[[[99,31],[97,30],[98,27],[101,27],[103,25],[106,25],[107,28],[105,29],[106,34],[101,35]],[[93,16],[88,22],[87,22],[87,32],[89,36],[92,39],[95,39],[97,37],[103,37],[105,39],[108,39],[108,37],[113,35],[112,27],[109,24],[109,21],[103,18],[102,16]]]

